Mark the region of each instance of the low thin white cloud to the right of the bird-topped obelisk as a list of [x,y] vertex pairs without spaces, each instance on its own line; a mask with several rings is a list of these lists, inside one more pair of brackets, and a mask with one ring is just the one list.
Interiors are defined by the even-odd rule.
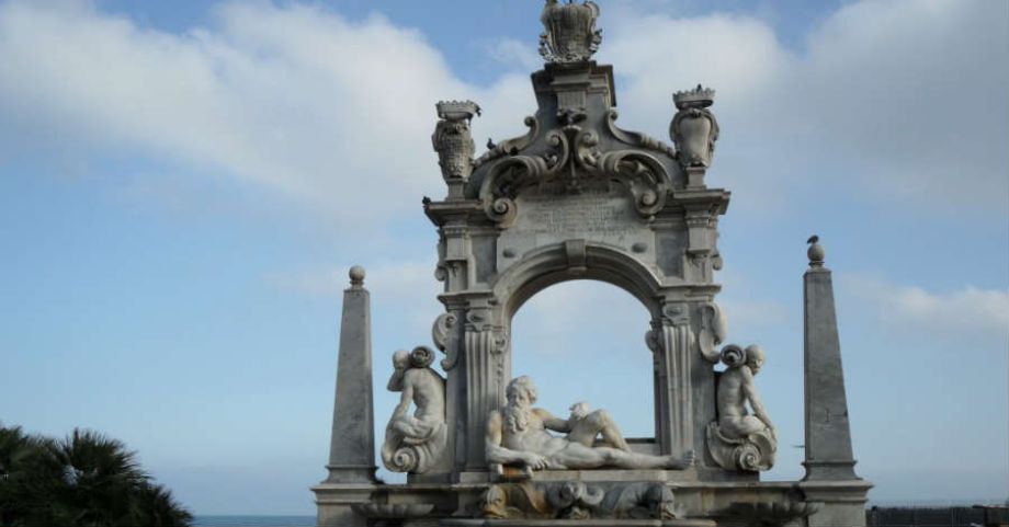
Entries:
[[1009,289],[968,285],[929,291],[870,276],[850,276],[844,284],[884,322],[909,324],[926,334],[963,331],[1009,336]]

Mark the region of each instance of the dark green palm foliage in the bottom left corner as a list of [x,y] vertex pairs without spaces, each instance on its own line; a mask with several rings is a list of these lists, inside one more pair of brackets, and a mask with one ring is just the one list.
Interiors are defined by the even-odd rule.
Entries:
[[56,440],[0,425],[0,527],[177,527],[191,520],[122,443],[90,431]]

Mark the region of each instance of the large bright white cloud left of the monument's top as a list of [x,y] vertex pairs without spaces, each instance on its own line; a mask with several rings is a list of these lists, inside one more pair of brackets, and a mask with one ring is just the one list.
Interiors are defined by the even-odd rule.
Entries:
[[[467,85],[415,31],[321,8],[234,2],[170,34],[87,3],[0,4],[0,128],[53,150],[139,150],[367,226],[443,183],[434,102],[473,98],[523,131],[532,93]],[[395,50],[395,53],[390,53]],[[528,82],[528,81],[526,81]]]

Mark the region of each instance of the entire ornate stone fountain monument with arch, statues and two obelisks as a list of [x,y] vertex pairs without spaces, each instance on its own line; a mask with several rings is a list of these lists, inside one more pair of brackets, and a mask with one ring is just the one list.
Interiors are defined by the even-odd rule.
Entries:
[[[437,104],[447,190],[423,207],[439,232],[445,311],[433,348],[392,356],[387,388],[400,402],[377,450],[407,483],[375,477],[369,293],[354,267],[329,477],[313,488],[320,526],[864,525],[872,485],[854,473],[823,247],[809,240],[804,276],[806,477],[761,482],[778,450],[756,381],[764,352],[726,343],[715,302],[729,202],[705,181],[715,92],[673,94],[672,145],[620,128],[613,70],[592,60],[598,16],[590,1],[547,0],[538,108],[524,135],[477,157],[477,104]],[[613,284],[650,312],[656,437],[628,440],[620,415],[586,403],[554,415],[535,406],[533,379],[512,378],[512,316],[571,279]]]

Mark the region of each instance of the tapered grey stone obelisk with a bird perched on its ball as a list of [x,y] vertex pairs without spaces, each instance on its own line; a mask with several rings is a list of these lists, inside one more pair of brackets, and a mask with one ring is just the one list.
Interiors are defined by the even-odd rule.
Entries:
[[819,238],[809,239],[803,276],[805,314],[806,477],[804,481],[858,480],[851,454],[848,398],[834,309],[830,270]]

